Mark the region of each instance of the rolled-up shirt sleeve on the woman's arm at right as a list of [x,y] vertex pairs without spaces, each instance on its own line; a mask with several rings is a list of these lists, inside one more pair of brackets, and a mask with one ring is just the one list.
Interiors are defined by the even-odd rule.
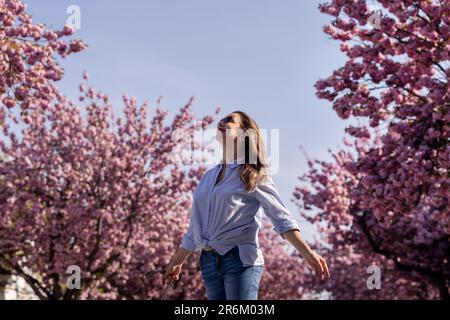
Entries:
[[263,207],[264,213],[269,217],[273,230],[278,232],[284,239],[282,233],[289,230],[299,230],[300,226],[290,211],[281,200],[272,177],[260,183],[254,190],[254,195]]

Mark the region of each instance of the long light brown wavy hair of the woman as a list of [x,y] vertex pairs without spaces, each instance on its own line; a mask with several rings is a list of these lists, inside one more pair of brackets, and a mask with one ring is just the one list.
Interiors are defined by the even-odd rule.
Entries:
[[[267,155],[259,126],[243,111],[233,111],[241,118],[241,129],[244,131],[245,163],[241,170],[241,180],[247,190],[253,191],[268,175]],[[248,132],[250,131],[250,134]],[[250,155],[253,155],[250,161]],[[254,158],[256,155],[256,161]],[[256,163],[255,163],[256,162]]]

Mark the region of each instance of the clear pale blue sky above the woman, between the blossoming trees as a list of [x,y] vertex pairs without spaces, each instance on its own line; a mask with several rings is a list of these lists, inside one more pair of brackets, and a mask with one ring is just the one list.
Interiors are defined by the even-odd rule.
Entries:
[[[305,172],[302,145],[314,157],[341,145],[344,122],[315,96],[314,83],[341,66],[338,44],[322,32],[329,17],[308,0],[26,0],[35,23],[65,24],[69,5],[81,9],[75,34],[89,48],[62,62],[59,82],[77,97],[83,70],[115,109],[126,93],[174,113],[191,96],[198,116],[241,109],[261,128],[280,130],[280,170],[273,176],[291,203]],[[312,236],[305,226],[304,234]]]

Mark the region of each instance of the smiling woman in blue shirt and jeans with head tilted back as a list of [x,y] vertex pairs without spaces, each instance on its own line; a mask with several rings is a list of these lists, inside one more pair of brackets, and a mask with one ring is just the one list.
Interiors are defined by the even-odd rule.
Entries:
[[[209,169],[194,191],[189,228],[164,279],[178,280],[187,257],[201,250],[199,264],[209,300],[256,300],[264,269],[258,243],[263,209],[319,279],[330,277],[325,260],[305,243],[268,173],[255,121],[242,111],[217,126],[222,163]],[[292,270],[295,272],[295,270]]]

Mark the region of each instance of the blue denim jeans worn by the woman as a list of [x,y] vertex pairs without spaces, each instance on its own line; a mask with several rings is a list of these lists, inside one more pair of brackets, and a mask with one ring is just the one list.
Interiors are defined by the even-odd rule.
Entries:
[[238,246],[223,256],[202,250],[199,261],[208,300],[258,300],[264,266],[244,267]]

